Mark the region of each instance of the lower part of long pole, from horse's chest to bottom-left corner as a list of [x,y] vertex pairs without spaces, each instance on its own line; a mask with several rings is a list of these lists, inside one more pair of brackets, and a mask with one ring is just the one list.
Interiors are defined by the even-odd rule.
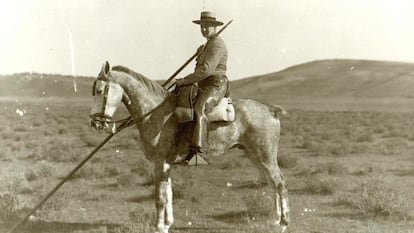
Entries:
[[118,130],[115,132],[112,132],[111,134],[109,134],[102,142],[101,144],[99,144],[97,147],[95,147],[95,149],[89,153],[89,155],[82,160],[82,162],[80,162],[68,175],[66,175],[66,177],[59,182],[59,184],[57,184],[52,191],[50,191],[46,197],[43,198],[42,201],[40,201],[28,214],[26,214],[26,216],[24,218],[22,218],[18,223],[16,223],[9,231],[7,231],[7,233],[12,233],[14,232],[14,230],[17,229],[17,227],[19,227],[20,225],[22,225],[29,217],[30,215],[32,215],[37,209],[39,209],[43,203],[45,203],[64,183],[66,183],[66,181],[68,181],[86,162],[88,162],[88,160],[90,160],[92,158],[92,156],[94,156],[96,154],[96,152],[98,152],[99,149],[101,149],[102,146],[105,145],[105,143],[107,143],[115,134],[117,134],[118,132],[120,132],[121,130],[125,129],[126,127],[130,126],[131,124],[134,123],[134,120],[132,118],[130,118],[128,121],[122,123]]

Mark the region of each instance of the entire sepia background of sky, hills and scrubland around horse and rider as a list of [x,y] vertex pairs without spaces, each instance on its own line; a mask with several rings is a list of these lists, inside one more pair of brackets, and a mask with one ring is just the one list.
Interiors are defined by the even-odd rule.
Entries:
[[[205,42],[191,22],[203,10],[234,20],[221,35],[231,97],[288,111],[278,154],[287,232],[414,232],[409,0],[0,0],[0,232],[107,136],[88,116],[102,64],[162,82]],[[172,179],[172,233],[280,230],[270,187],[241,150],[174,167]],[[131,127],[16,232],[146,233],[154,223],[152,165]]]

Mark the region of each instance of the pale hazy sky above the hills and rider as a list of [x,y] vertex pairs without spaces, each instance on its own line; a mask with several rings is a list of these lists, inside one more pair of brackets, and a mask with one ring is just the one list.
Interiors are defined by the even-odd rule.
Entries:
[[205,42],[203,10],[233,20],[230,80],[322,59],[414,63],[412,0],[0,0],[0,74],[96,76],[109,61],[167,79]]

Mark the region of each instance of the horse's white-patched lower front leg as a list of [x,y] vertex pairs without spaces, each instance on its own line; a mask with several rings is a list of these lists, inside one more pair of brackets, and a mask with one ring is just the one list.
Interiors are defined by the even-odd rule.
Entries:
[[168,233],[174,222],[170,169],[171,164],[165,161],[157,162],[154,166],[157,233]]

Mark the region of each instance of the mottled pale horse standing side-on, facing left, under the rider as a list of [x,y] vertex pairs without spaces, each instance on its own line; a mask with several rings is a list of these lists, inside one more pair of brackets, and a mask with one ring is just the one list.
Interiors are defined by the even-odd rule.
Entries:
[[[173,224],[173,192],[170,171],[182,147],[176,136],[179,122],[173,114],[177,96],[160,84],[123,66],[102,66],[93,85],[91,126],[107,129],[117,107],[123,103],[141,135],[147,159],[154,164],[156,232],[168,233]],[[274,192],[276,228],[286,230],[289,224],[288,190],[278,166],[280,138],[278,115],[284,110],[254,99],[233,102],[236,119],[227,123],[210,122],[208,158],[241,148]],[[182,144],[182,143],[181,143]]]

